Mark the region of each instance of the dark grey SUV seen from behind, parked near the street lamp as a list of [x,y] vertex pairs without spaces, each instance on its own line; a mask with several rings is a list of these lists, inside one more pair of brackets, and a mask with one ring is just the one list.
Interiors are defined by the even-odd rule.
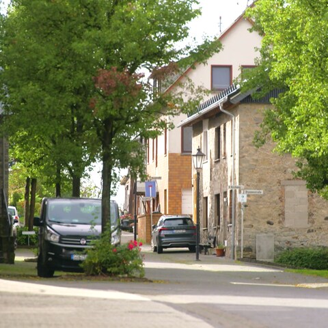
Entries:
[[191,217],[185,215],[162,215],[152,226],[152,251],[163,253],[164,248],[188,247],[196,249],[196,226]]

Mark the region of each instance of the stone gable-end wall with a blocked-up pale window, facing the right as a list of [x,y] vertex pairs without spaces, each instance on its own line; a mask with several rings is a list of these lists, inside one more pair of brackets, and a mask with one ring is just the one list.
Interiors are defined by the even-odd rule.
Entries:
[[[328,202],[295,180],[295,159],[273,152],[269,142],[255,148],[254,131],[265,105],[239,105],[239,182],[263,195],[247,195],[244,246],[252,255],[256,235],[274,236],[275,252],[289,247],[328,246]],[[238,227],[240,231],[240,226]],[[245,253],[244,253],[245,254]]]

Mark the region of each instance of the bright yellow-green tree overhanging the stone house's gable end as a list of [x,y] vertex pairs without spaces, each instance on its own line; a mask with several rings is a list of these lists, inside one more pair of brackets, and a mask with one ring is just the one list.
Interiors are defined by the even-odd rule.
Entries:
[[[244,90],[281,88],[257,141],[297,158],[296,176],[328,198],[328,7],[326,0],[259,0],[248,15],[262,33],[258,67]],[[295,168],[296,169],[296,168]]]

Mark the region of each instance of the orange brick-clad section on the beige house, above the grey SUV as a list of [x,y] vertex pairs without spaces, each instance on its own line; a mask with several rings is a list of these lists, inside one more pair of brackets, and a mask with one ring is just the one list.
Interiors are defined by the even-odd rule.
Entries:
[[182,213],[182,189],[191,189],[191,155],[169,154],[168,213]]

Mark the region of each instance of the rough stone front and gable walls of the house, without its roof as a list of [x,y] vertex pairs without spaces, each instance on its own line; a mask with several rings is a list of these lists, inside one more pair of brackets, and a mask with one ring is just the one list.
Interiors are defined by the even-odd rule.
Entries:
[[[266,143],[254,146],[254,133],[260,128],[262,113],[269,105],[240,104],[231,110],[236,116],[236,152],[234,181],[232,181],[232,124],[231,118],[217,113],[204,124],[208,126],[208,161],[201,174],[201,200],[207,197],[207,217],[204,206],[200,208],[201,240],[208,234],[217,235],[217,241],[231,245],[232,191],[230,184],[243,185],[245,189],[262,190],[262,195],[247,195],[241,215],[236,190],[235,250],[241,254],[241,220],[243,219],[243,255],[256,257],[256,237],[273,236],[275,254],[288,247],[328,246],[328,202],[311,193],[305,182],[295,180],[295,159],[288,154],[274,152],[275,145]],[[215,158],[215,128],[221,128],[221,156]],[[203,124],[193,126],[193,149],[202,145]],[[226,144],[223,144],[226,143]],[[223,149],[225,150],[223,156]],[[216,209],[220,197],[219,213]],[[219,219],[216,217],[219,215]],[[205,216],[205,218],[204,218]],[[208,220],[207,222],[205,220]],[[204,223],[206,222],[206,227]],[[264,238],[265,239],[265,238]]]

